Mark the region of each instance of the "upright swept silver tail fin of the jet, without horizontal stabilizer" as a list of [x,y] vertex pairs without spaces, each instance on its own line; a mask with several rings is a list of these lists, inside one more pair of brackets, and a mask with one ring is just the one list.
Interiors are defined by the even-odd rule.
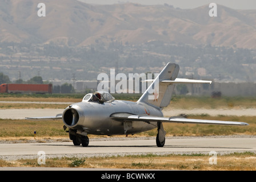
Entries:
[[170,104],[175,85],[165,84],[161,81],[175,80],[178,76],[178,72],[178,64],[168,63],[137,102],[144,102],[157,107],[168,106]]

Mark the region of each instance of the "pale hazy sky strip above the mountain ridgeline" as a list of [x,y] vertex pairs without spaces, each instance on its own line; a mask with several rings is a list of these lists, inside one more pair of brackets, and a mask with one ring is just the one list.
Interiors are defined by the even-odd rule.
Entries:
[[102,4],[111,5],[114,3],[140,3],[142,5],[163,5],[167,3],[173,5],[174,7],[179,7],[181,9],[193,9],[195,7],[207,5],[212,2],[217,5],[224,5],[232,9],[256,9],[255,0],[79,0],[90,4]]

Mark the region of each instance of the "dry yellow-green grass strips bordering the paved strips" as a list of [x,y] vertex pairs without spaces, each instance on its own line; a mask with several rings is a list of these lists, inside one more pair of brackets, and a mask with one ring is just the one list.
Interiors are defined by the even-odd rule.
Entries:
[[[1,97],[1,109],[63,109],[67,104],[41,104],[24,102],[79,102],[81,98],[37,98],[37,97]],[[7,103],[11,101],[14,103]],[[20,102],[20,103],[18,103]],[[210,110],[227,109],[255,109],[255,98],[221,98],[214,100],[212,98],[174,98],[166,111],[172,109],[191,110],[194,108],[204,108]],[[246,127],[236,126],[213,126],[213,125],[186,125],[186,124],[165,124],[165,130],[169,137],[213,137],[235,135],[243,137],[245,135],[254,137],[256,135],[256,117],[255,116],[236,116],[207,113],[188,114],[189,118],[198,119],[216,119],[226,121],[242,121],[249,123]],[[30,142],[67,142],[68,136],[62,129],[62,122],[59,121],[25,121],[19,119],[0,119],[0,143],[30,143]],[[33,131],[37,130],[37,138],[34,139]],[[157,134],[156,130],[147,131],[132,137],[151,137]],[[98,136],[89,136],[97,139]],[[106,136],[103,136],[106,137]],[[256,138],[255,138],[256,142]],[[93,158],[53,158],[47,159],[47,164],[43,167],[89,167],[89,168],[138,168],[138,169],[185,169],[185,170],[255,170],[256,169],[255,151],[239,152],[234,154],[224,154],[218,156],[217,165],[209,164],[209,154],[186,154],[186,155],[130,155],[130,156],[111,156],[111,157],[93,157]],[[37,159],[18,159],[5,160],[0,159],[0,167],[39,167]]]

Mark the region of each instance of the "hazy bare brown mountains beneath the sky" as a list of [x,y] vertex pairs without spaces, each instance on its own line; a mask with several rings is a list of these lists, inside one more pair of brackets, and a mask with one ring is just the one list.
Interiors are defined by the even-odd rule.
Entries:
[[[39,17],[38,3],[46,17]],[[67,46],[141,44],[152,40],[174,44],[211,44],[256,48],[256,10],[218,5],[175,9],[169,5],[89,5],[74,0],[1,0],[0,42],[54,42]]]

